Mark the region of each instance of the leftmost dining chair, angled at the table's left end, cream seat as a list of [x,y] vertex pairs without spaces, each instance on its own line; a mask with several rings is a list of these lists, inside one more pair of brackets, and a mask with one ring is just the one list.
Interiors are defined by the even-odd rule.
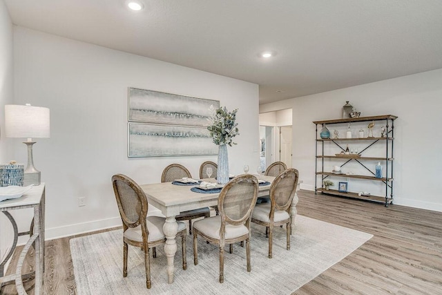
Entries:
[[[147,216],[148,202],[141,187],[126,175],[116,174],[112,177],[113,191],[117,199],[119,215],[123,222],[123,277],[127,276],[128,245],[140,247],[144,251],[146,267],[146,287],[151,288],[151,260],[149,249],[166,242],[163,225],[166,218]],[[177,236],[181,236],[182,269],[186,264],[186,225],[178,222]]]

